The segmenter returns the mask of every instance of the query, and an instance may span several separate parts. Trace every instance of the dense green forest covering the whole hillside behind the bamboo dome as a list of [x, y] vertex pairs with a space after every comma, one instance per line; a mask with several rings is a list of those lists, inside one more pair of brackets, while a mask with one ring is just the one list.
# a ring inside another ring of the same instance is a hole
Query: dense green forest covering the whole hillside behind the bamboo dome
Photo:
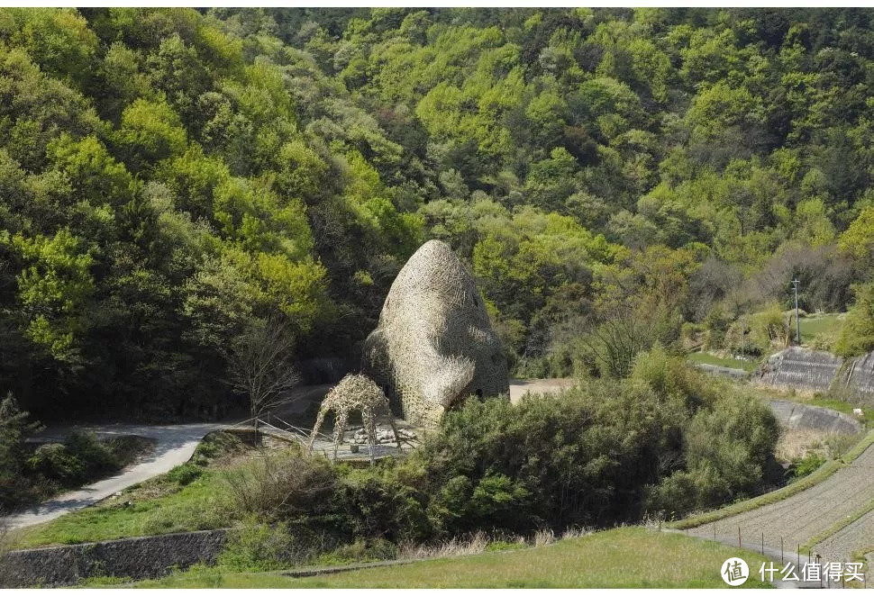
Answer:
[[794, 277], [874, 348], [872, 17], [2, 9], [0, 391], [219, 415], [259, 321], [356, 366], [429, 238], [518, 375], [753, 353]]

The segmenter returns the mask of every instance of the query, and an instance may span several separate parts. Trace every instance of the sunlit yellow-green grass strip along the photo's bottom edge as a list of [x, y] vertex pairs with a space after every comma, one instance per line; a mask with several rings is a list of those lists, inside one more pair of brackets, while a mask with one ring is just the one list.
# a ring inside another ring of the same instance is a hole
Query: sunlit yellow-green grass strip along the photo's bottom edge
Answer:
[[765, 588], [760, 555], [676, 533], [617, 528], [550, 546], [421, 561], [305, 578], [200, 567], [143, 588], [725, 588], [730, 556], [750, 565], [743, 587]]

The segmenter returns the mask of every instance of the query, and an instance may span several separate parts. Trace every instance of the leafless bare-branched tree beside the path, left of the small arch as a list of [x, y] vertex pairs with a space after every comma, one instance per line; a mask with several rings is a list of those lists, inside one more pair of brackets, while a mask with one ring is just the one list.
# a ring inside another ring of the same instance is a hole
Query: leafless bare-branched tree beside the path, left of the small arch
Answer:
[[290, 402], [291, 390], [300, 383], [291, 360], [294, 345], [291, 330], [277, 318], [253, 324], [234, 342], [231, 384], [249, 396], [256, 434], [259, 417]]

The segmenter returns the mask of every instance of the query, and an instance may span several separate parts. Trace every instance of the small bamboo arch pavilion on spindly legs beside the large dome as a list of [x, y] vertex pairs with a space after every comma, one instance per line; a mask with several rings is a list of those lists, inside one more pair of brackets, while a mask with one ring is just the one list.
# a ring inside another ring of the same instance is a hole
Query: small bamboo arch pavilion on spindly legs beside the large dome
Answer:
[[373, 465], [373, 452], [377, 446], [377, 417], [379, 415], [387, 416], [388, 423], [395, 433], [397, 450], [401, 450], [401, 438], [397, 433], [395, 419], [392, 418], [391, 410], [388, 407], [386, 393], [383, 393], [379, 386], [365, 375], [346, 375], [337, 386], [325, 395], [322, 407], [319, 408], [319, 415], [315, 419], [313, 433], [310, 435], [308, 451], [310, 453], [313, 452], [315, 438], [319, 433], [319, 429], [322, 428], [325, 415], [329, 411], [334, 411], [336, 421], [334, 422], [333, 430], [332, 461], [336, 462], [337, 448], [340, 447], [343, 435], [346, 432], [349, 414], [355, 410], [361, 412], [361, 421], [364, 423], [364, 430], [368, 436], [370, 465]]

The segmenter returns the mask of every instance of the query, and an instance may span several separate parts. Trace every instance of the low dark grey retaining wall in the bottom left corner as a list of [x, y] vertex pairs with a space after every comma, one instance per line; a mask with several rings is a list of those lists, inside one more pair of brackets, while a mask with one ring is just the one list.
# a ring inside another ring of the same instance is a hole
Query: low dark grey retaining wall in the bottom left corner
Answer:
[[213, 563], [226, 532], [216, 529], [16, 550], [0, 561], [0, 588], [57, 587], [104, 575], [160, 577], [173, 566], [187, 569], [200, 562]]

